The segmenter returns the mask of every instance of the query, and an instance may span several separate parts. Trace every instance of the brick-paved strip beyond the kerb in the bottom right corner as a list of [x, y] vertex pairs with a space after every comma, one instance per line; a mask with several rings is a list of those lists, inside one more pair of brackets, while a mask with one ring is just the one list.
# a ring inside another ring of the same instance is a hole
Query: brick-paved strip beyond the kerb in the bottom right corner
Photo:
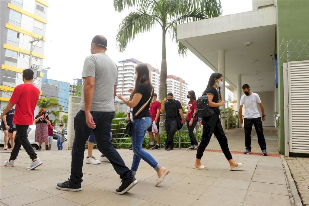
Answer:
[[309, 157], [285, 157], [303, 205], [309, 205]]

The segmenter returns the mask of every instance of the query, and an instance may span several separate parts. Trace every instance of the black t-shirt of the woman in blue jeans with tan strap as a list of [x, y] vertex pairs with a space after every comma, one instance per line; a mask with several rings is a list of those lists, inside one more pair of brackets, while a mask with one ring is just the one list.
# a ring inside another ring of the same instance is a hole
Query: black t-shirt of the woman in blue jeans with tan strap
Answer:
[[133, 119], [140, 119], [142, 117], [151, 117], [149, 112], [151, 100], [148, 102], [146, 107], [137, 115], [137, 117], [135, 117], [135, 113], [138, 111], [138, 109], [141, 108], [141, 106], [144, 105], [149, 100], [151, 96], [151, 87], [147, 84], [142, 83], [136, 89], [136, 93], [142, 94], [142, 99], [141, 101], [138, 102], [136, 107], [133, 108], [132, 112]]

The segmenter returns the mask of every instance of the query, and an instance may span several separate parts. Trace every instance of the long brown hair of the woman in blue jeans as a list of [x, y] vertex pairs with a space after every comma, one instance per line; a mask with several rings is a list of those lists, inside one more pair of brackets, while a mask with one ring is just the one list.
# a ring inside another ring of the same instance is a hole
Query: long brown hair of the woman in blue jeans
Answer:
[[[150, 86], [152, 91], [154, 89], [151, 82], [150, 82], [150, 79], [149, 79], [149, 70], [148, 70], [147, 65], [146, 64], [139, 64], [137, 67], [135, 67], [135, 70], [137, 71], [137, 79], [135, 81], [134, 91], [131, 94], [130, 100], [133, 99], [134, 94], [136, 93], [138, 86], [142, 83]], [[154, 96], [154, 92], [152, 92], [151, 98], [153, 98], [153, 96]]]

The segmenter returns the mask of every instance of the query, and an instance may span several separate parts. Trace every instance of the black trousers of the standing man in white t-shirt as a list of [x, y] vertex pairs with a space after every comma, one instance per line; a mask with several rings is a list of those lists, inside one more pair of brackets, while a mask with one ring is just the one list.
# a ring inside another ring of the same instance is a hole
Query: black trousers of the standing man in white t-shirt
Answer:
[[251, 131], [252, 131], [252, 124], [255, 127], [255, 131], [257, 134], [257, 141], [260, 145], [261, 150], [266, 149], [266, 142], [263, 134], [263, 124], [261, 118], [253, 118], [253, 119], [244, 119], [245, 125], [245, 146], [246, 149], [251, 149]]

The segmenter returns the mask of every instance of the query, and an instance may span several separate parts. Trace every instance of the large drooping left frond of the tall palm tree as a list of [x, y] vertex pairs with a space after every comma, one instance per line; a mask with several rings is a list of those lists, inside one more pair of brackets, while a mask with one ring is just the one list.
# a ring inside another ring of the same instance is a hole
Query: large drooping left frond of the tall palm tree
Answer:
[[120, 52], [124, 52], [129, 42], [138, 34], [150, 31], [159, 23], [155, 16], [149, 15], [145, 10], [129, 13], [121, 22], [116, 36]]

